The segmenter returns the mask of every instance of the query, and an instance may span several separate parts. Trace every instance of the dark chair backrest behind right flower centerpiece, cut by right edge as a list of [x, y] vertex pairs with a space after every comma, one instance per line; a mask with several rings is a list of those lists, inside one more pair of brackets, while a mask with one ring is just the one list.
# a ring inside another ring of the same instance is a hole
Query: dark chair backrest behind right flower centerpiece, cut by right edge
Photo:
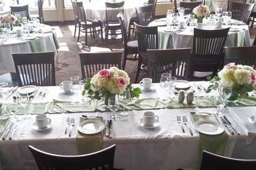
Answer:
[[225, 47], [224, 63], [250, 65], [256, 68], [256, 47]]

